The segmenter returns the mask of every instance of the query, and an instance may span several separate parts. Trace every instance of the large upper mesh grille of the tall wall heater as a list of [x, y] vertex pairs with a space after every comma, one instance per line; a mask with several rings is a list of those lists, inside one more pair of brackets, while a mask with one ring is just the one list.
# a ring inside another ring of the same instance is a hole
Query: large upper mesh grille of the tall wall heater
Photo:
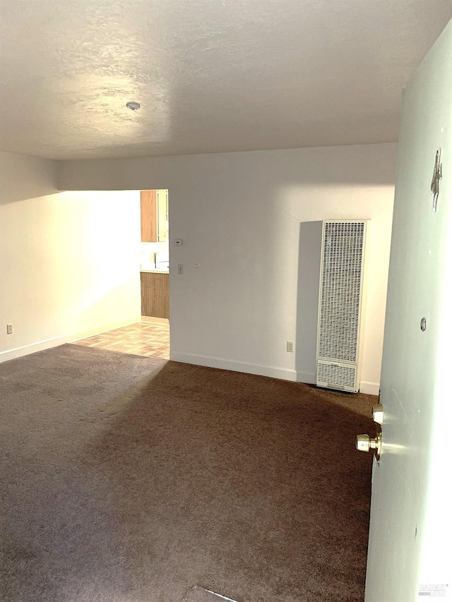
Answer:
[[319, 357], [357, 361], [364, 222], [326, 222]]

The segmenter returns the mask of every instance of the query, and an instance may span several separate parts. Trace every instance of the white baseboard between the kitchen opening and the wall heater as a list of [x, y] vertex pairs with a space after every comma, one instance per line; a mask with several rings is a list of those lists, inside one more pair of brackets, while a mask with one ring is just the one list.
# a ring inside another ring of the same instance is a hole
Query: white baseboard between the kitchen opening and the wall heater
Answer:
[[237, 362], [221, 357], [184, 354], [177, 353], [175, 351], [170, 351], [170, 359], [172, 361], [181, 361], [183, 363], [193, 363], [195, 366], [221, 368], [222, 370], [231, 370], [233, 372], [244, 372], [246, 374], [269, 376], [270, 378], [280, 378], [282, 380], [292, 380], [298, 383], [315, 383], [314, 374], [304, 374], [289, 368], [262, 366], [258, 363]]

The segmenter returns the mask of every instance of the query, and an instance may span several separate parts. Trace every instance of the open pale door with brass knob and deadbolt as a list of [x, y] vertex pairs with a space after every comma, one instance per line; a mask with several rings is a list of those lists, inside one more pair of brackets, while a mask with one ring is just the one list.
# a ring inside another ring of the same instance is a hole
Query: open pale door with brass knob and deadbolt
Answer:
[[403, 96], [366, 602], [452, 599], [451, 349], [452, 22]]

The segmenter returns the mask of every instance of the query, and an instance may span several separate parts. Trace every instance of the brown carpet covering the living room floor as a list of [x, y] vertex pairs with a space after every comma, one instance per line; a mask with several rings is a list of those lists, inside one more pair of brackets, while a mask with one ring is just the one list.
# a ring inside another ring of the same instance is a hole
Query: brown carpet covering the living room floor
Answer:
[[362, 601], [374, 397], [76, 345], [0, 394], [2, 600]]

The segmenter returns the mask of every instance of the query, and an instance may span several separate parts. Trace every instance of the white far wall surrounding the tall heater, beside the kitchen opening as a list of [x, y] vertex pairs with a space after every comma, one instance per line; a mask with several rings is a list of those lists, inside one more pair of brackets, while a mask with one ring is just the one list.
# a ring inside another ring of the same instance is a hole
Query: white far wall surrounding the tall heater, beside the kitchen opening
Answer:
[[61, 162], [59, 188], [168, 188], [170, 239], [184, 240], [170, 245], [172, 359], [307, 382], [300, 222], [370, 218], [362, 390], [378, 393], [395, 171], [382, 144]]

